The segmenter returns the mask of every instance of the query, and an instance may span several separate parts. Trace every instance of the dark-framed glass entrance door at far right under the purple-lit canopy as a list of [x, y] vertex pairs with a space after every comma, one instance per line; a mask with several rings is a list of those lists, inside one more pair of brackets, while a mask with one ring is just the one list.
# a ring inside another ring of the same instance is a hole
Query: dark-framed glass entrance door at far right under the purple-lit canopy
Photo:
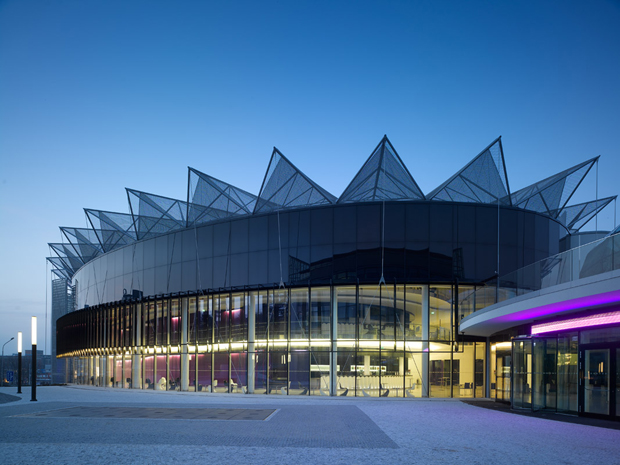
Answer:
[[609, 349], [583, 350], [583, 413], [597, 415], [611, 413], [609, 355]]

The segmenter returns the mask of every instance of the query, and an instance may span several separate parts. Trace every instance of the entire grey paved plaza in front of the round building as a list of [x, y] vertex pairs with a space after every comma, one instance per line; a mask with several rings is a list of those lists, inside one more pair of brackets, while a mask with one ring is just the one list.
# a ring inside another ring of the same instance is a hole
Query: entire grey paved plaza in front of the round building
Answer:
[[[617, 463], [620, 431], [456, 399], [0, 389], [0, 462]], [[15, 400], [19, 397], [19, 400]]]

